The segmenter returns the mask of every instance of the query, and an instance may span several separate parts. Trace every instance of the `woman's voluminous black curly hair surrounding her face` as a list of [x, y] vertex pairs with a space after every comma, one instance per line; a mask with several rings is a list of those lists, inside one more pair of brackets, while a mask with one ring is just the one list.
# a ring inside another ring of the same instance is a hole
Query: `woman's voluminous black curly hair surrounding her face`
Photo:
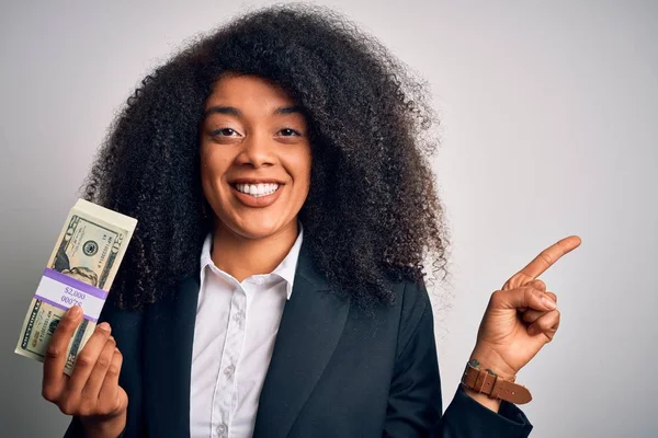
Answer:
[[390, 283], [421, 281], [426, 256], [446, 273], [426, 85], [342, 14], [274, 5], [189, 43], [141, 81], [110, 127], [82, 196], [138, 219], [112, 288], [120, 307], [152, 303], [198, 274], [213, 226], [200, 127], [224, 72], [268, 79], [303, 108], [313, 163], [299, 220], [337, 293], [366, 308], [393, 302]]

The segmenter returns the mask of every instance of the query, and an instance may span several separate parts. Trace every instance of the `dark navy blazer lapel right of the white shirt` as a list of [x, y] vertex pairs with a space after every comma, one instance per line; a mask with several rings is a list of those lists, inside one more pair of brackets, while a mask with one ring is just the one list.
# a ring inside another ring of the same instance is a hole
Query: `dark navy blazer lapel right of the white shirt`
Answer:
[[336, 349], [349, 308], [349, 301], [329, 291], [303, 242], [260, 395], [254, 438], [287, 436]]

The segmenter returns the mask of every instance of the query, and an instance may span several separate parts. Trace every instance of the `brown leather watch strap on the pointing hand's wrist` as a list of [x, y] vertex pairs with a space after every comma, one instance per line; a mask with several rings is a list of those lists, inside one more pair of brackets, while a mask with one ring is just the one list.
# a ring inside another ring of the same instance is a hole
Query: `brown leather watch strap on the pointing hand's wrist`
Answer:
[[489, 399], [500, 399], [514, 404], [525, 404], [532, 400], [527, 388], [514, 383], [515, 379], [506, 380], [501, 377], [490, 374], [488, 371], [475, 368], [466, 364], [462, 376], [462, 384], [474, 391], [487, 394]]

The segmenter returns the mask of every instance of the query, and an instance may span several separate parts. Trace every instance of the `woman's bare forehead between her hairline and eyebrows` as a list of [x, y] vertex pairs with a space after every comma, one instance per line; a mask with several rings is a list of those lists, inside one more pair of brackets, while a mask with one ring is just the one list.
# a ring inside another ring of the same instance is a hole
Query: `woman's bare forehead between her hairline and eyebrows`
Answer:
[[206, 107], [217, 105], [230, 106], [282, 106], [295, 102], [290, 94], [277, 84], [253, 74], [225, 73], [214, 84]]

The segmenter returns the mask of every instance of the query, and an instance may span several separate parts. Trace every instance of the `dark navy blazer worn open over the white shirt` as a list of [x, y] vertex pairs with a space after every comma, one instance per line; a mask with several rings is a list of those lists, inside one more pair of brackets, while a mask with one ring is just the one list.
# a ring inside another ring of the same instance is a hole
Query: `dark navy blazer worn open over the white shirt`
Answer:
[[[107, 302], [124, 355], [128, 394], [123, 437], [189, 437], [190, 376], [198, 276], [144, 312]], [[461, 388], [442, 415], [432, 308], [423, 285], [400, 283], [393, 306], [364, 314], [329, 291], [308, 247], [299, 253], [256, 418], [256, 438], [526, 437], [514, 405], [500, 412]], [[466, 360], [467, 358], [465, 358]], [[82, 437], [73, 418], [66, 437]]]

